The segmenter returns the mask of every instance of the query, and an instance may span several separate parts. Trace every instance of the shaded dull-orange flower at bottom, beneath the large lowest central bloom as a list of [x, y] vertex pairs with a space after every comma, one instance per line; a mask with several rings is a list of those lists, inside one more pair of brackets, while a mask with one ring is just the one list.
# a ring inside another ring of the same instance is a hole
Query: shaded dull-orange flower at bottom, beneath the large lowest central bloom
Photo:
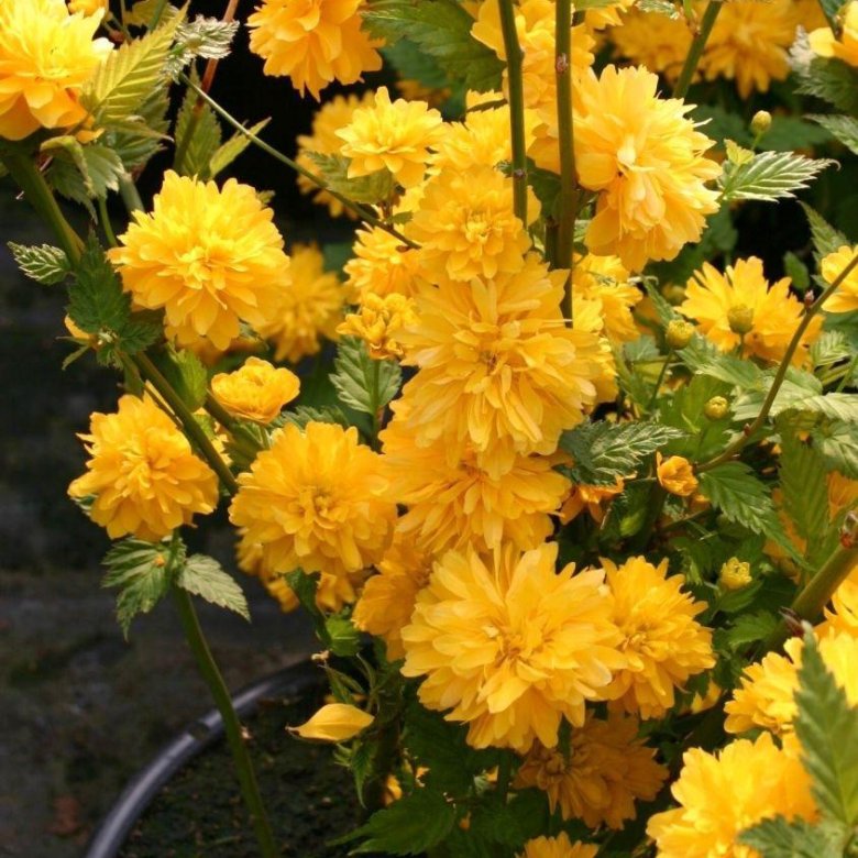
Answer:
[[622, 828], [636, 816], [635, 802], [652, 801], [668, 777], [656, 750], [638, 737], [638, 719], [610, 713], [607, 721], [587, 716], [572, 730], [568, 757], [536, 744], [518, 770], [516, 788], [548, 793], [551, 813], [583, 820], [588, 828]]

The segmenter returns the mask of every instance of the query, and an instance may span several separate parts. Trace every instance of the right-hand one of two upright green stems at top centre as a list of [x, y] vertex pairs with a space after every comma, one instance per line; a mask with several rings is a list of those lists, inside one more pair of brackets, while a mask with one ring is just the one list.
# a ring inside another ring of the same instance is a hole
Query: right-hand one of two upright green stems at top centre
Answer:
[[557, 128], [560, 147], [560, 210], [554, 267], [569, 268], [563, 292], [563, 318], [572, 326], [572, 271], [575, 235], [575, 144], [572, 119], [572, 3], [557, 0], [556, 18]]

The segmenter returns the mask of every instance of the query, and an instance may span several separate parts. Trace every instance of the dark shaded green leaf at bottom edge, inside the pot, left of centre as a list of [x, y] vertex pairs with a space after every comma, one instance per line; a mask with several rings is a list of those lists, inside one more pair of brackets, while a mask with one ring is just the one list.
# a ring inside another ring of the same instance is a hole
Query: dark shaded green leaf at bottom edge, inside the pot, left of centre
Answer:
[[352, 855], [420, 855], [447, 837], [455, 824], [455, 807], [444, 799], [442, 792], [418, 789], [389, 807], [374, 813], [365, 825], [342, 840], [362, 840], [351, 850]]

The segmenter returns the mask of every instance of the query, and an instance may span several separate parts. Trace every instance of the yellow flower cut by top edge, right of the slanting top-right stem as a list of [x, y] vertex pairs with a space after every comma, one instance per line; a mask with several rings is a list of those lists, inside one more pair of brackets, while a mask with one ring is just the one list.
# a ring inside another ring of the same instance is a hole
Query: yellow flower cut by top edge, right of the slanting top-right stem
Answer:
[[724, 3], [700, 62], [706, 80], [726, 77], [739, 95], [767, 92], [772, 80], [790, 73], [789, 50], [795, 41], [795, 0]]

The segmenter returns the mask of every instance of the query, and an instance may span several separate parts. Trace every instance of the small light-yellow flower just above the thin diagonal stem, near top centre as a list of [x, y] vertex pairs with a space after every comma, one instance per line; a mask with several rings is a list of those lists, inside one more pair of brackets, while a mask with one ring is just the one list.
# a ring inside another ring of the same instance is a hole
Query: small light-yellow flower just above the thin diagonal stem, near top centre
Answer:
[[344, 141], [342, 154], [351, 158], [349, 177], [387, 169], [405, 188], [419, 185], [442, 124], [441, 114], [425, 101], [391, 102], [387, 87], [380, 87], [375, 103], [355, 110], [352, 121], [337, 131]]

